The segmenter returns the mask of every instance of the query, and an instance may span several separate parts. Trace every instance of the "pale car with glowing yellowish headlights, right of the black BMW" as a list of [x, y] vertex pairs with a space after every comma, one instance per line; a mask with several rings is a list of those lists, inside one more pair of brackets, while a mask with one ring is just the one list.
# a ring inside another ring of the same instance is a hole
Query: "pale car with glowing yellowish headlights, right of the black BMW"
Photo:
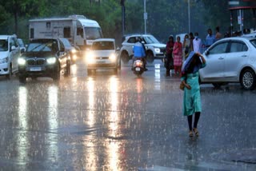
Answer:
[[115, 73], [121, 68], [114, 38], [99, 38], [92, 42], [90, 51], [86, 54], [87, 74], [92, 70], [113, 69]]

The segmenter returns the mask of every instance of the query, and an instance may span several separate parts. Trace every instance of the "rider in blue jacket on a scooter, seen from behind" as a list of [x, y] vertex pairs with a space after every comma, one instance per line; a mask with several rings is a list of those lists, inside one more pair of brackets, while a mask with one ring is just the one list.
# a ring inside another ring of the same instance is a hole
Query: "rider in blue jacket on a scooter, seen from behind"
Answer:
[[[141, 38], [136, 38], [136, 43], [134, 44], [133, 47], [134, 51], [134, 58], [133, 58], [133, 63], [137, 58], [141, 58], [142, 62], [144, 63], [144, 70], [146, 71], [146, 48], [142, 44], [142, 39]], [[132, 66], [132, 70], [134, 70], [134, 67]]]

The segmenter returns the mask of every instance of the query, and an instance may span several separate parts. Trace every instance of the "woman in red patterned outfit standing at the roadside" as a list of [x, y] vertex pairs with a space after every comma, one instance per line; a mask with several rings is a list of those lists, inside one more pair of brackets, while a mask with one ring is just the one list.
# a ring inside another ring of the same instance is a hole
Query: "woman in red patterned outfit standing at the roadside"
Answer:
[[173, 57], [174, 57], [174, 72], [175, 75], [182, 76], [182, 43], [180, 42], [181, 38], [177, 37], [177, 42], [174, 42], [174, 50], [173, 50]]

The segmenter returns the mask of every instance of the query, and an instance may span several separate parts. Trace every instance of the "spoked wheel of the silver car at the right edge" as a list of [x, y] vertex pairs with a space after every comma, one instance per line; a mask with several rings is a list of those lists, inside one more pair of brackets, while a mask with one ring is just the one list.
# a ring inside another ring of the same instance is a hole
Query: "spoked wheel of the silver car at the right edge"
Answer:
[[255, 73], [253, 70], [246, 69], [242, 72], [240, 84], [243, 89], [254, 89], [255, 86]]

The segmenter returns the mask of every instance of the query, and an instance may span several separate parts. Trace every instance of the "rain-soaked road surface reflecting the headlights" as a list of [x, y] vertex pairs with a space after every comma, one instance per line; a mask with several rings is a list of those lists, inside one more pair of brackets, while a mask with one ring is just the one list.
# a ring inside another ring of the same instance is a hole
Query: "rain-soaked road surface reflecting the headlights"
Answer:
[[189, 138], [179, 79], [160, 61], [136, 78], [0, 78], [0, 170], [256, 170], [256, 90], [202, 85], [200, 137]]

